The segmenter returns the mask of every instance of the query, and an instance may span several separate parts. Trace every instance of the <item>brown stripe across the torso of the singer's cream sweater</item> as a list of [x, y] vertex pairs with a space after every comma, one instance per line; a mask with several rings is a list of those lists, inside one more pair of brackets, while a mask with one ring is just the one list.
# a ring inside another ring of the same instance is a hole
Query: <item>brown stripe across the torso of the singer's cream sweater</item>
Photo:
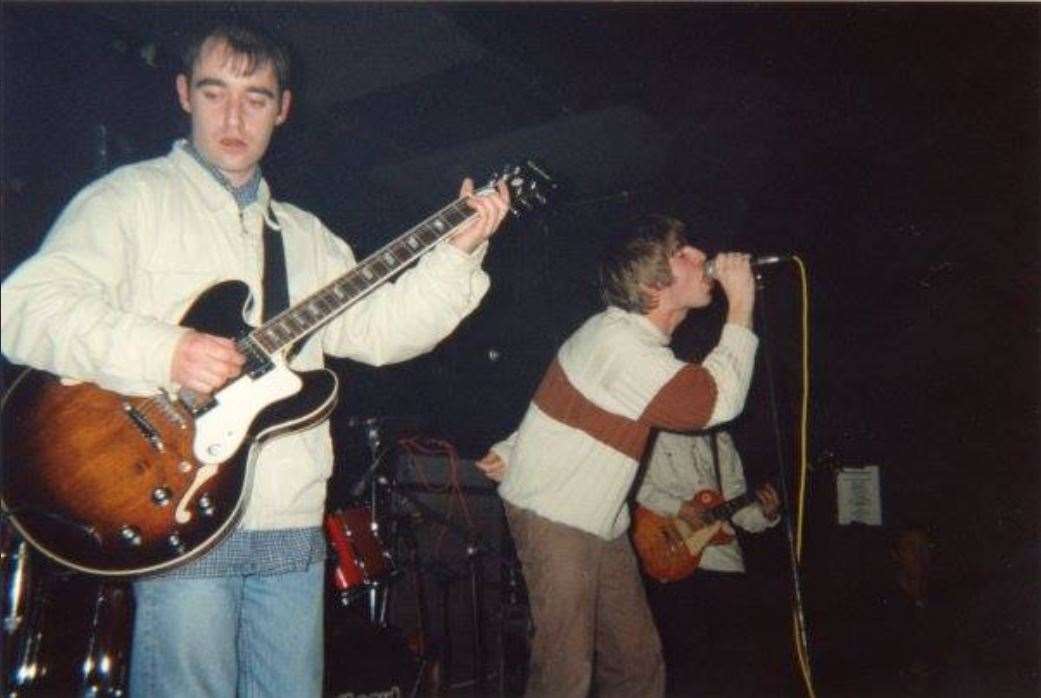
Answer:
[[594, 405], [572, 385], [556, 359], [542, 377], [534, 402], [550, 417], [585, 432], [634, 461], [643, 455], [650, 428]]

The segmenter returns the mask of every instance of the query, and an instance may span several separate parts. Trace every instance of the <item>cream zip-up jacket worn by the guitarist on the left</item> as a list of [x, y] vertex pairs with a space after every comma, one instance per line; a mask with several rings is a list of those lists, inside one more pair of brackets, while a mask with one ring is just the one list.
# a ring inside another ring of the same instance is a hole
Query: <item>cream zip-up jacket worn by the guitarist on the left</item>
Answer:
[[[40, 252], [4, 281], [0, 342], [12, 362], [125, 394], [170, 385], [177, 324], [198, 295], [228, 279], [260, 296], [263, 214], [270, 190], [242, 212], [231, 193], [183, 149], [121, 167], [83, 189]], [[314, 215], [274, 202], [282, 231], [290, 303], [342, 275], [351, 249]], [[391, 234], [388, 233], [388, 237]], [[374, 365], [432, 348], [488, 289], [480, 264], [438, 245], [318, 331], [293, 361], [321, 367], [324, 354]], [[259, 305], [247, 321], [257, 324]], [[243, 526], [321, 524], [332, 469], [327, 423], [269, 443], [257, 461]]]

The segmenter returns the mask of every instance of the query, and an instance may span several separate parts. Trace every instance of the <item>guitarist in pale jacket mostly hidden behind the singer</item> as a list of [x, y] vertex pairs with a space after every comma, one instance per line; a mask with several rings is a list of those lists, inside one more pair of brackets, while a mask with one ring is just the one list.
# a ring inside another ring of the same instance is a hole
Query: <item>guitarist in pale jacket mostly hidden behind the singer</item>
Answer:
[[[755, 677], [747, 667], [757, 664], [755, 638], [744, 561], [731, 522], [748, 533], [776, 525], [781, 501], [773, 487], [745, 495], [741, 458], [723, 431], [660, 432], [636, 499], [634, 539], [649, 572], [648, 599], [661, 635], [669, 695], [701, 695], [697, 689], [707, 695], [759, 695], [748, 683]], [[641, 528], [652, 525], [660, 526], [654, 533], [661, 546], [641, 545], [648, 538]], [[717, 531], [692, 555], [683, 538], [697, 540], [707, 526]], [[687, 560], [665, 567], [649, 559], [649, 548]], [[658, 569], [664, 572], [656, 579]]]

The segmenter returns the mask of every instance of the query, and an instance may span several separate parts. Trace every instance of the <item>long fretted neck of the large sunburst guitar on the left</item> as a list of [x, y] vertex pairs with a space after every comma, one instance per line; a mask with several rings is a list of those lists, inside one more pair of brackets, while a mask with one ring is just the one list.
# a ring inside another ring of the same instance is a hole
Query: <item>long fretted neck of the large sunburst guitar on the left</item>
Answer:
[[344, 276], [264, 322], [251, 332], [248, 339], [269, 356], [291, 346], [429, 252], [473, 215], [475, 212], [465, 199], [452, 202]]

